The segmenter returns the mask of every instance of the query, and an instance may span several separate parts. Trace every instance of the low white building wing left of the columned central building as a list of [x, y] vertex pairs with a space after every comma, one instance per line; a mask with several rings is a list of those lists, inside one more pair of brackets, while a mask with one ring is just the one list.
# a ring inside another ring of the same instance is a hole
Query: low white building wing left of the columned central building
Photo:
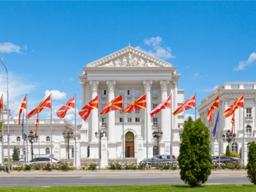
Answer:
[[[7, 106], [3, 105], [3, 113], [4, 113], [4, 127], [7, 127], [8, 113]], [[0, 118], [2, 121], [2, 111], [0, 111]], [[24, 133], [26, 134], [26, 119], [24, 118]], [[35, 134], [35, 126], [36, 120], [29, 119], [28, 120], [28, 132], [33, 131]], [[26, 153], [26, 142], [24, 143], [22, 139], [22, 125], [19, 125], [18, 120], [14, 119], [12, 115], [10, 115], [9, 119], [9, 130], [10, 130], [10, 156], [12, 158], [13, 148], [14, 146], [18, 149], [20, 157], [24, 159], [24, 155]], [[2, 127], [0, 127], [2, 130]], [[38, 156], [51, 154], [51, 140], [52, 140], [52, 154], [56, 159], [67, 159], [68, 147], [67, 140], [63, 138], [63, 132], [74, 132], [74, 125], [68, 122], [65, 119], [52, 119], [52, 137], [51, 137], [51, 120], [50, 119], [40, 119], [38, 124], [37, 135], [39, 136], [39, 140], [36, 143], [33, 143], [33, 154]], [[79, 132], [79, 129], [78, 131]], [[28, 133], [29, 134], [29, 133]], [[67, 134], [66, 134], [67, 135]], [[79, 139], [79, 138], [78, 138]], [[3, 141], [0, 142], [0, 163], [2, 163], [2, 147], [4, 148], [4, 157], [8, 157], [8, 131], [4, 128], [3, 132]], [[39, 143], [40, 143], [40, 153], [39, 153]], [[74, 138], [70, 140], [70, 157], [74, 154]], [[73, 149], [73, 151], [72, 151]], [[35, 156], [34, 156], [35, 157]], [[31, 143], [28, 146], [28, 160], [31, 160]]]

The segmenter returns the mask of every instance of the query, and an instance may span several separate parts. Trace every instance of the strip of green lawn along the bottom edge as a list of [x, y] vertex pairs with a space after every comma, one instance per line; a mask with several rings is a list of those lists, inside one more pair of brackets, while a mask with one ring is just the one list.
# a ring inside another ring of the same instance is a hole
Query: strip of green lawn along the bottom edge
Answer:
[[253, 185], [203, 185], [189, 188], [187, 185], [152, 185], [152, 186], [56, 186], [56, 187], [13, 187], [0, 188], [0, 191], [256, 191]]

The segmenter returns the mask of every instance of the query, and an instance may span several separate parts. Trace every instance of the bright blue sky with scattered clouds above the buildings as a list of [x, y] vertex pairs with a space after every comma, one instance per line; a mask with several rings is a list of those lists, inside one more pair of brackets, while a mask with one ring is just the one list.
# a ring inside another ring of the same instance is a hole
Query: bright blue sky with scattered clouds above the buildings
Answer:
[[[225, 82], [255, 81], [255, 1], [1, 1], [0, 6], [0, 57], [8, 67], [15, 117], [26, 93], [29, 110], [52, 90], [55, 111], [74, 93], [81, 109], [82, 67], [129, 42], [177, 67], [178, 88], [185, 90], [185, 100], [196, 92], [197, 106]], [[6, 93], [5, 78], [0, 65], [0, 93]], [[41, 117], [49, 118], [49, 111]], [[67, 120], [74, 122], [71, 110]]]

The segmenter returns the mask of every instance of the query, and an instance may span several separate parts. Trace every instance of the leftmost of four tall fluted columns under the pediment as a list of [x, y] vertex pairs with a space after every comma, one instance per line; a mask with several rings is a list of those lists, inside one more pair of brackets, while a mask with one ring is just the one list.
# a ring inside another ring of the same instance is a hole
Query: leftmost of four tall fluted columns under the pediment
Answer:
[[[99, 88], [99, 81], [90, 81], [92, 87], [92, 99], [94, 99], [98, 95], [98, 88]], [[98, 116], [98, 109], [93, 109], [91, 111], [92, 115], [92, 141], [98, 141], [95, 137], [95, 132], [98, 132], [99, 128], [99, 116]]]

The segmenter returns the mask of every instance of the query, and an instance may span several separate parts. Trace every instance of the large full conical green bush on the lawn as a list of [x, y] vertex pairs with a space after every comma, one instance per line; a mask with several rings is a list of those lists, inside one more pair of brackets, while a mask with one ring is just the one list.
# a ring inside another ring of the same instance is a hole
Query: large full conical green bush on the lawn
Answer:
[[180, 179], [190, 186], [204, 184], [211, 175], [209, 130], [198, 118], [185, 121], [178, 157]]

